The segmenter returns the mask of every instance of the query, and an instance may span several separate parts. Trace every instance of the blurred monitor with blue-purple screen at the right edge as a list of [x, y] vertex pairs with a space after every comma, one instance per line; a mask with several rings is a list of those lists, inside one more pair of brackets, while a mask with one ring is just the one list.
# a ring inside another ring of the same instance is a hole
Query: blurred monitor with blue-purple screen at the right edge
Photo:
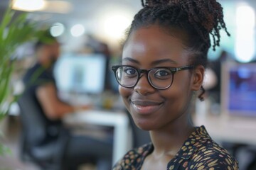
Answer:
[[256, 63], [223, 64], [223, 114], [256, 118]]

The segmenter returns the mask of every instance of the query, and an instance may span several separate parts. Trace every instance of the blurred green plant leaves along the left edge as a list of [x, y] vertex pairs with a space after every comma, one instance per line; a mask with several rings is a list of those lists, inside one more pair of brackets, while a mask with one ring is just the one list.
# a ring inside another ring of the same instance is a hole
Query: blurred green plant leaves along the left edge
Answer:
[[[16, 62], [14, 53], [17, 47], [38, 38], [40, 33], [41, 30], [36, 28], [36, 23], [28, 21], [27, 13], [16, 15], [16, 11], [11, 7], [6, 9], [0, 21], [0, 123], [6, 117], [11, 103], [16, 101], [10, 86]], [[6, 152], [9, 152], [9, 149], [0, 143], [0, 155]]]

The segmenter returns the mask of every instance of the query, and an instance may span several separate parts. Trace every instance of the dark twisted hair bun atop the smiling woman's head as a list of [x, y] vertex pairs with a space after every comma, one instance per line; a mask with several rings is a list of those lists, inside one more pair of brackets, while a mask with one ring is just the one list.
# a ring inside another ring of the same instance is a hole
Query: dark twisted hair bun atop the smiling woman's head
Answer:
[[[223, 28], [230, 36], [223, 21], [223, 8], [216, 0], [142, 0], [142, 6], [177, 6], [181, 8], [184, 13], [187, 13], [188, 22], [204, 41], [209, 41], [209, 34], [213, 37], [213, 50], [215, 50], [215, 46], [219, 46], [220, 29]], [[210, 47], [210, 42], [208, 46]]]

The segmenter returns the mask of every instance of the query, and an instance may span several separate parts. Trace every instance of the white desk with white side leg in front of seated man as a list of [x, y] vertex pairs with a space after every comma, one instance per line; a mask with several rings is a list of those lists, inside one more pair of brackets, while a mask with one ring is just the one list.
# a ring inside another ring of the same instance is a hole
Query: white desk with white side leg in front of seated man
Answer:
[[64, 118], [65, 123], [70, 124], [93, 124], [114, 127], [113, 159], [116, 163], [121, 159], [129, 148], [129, 118], [122, 112], [111, 111], [80, 111], [68, 114]]

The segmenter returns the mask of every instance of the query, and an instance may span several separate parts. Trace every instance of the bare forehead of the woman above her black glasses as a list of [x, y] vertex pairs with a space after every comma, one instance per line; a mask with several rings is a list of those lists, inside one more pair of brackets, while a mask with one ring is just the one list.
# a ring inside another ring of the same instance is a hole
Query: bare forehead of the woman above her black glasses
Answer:
[[138, 57], [144, 60], [181, 57], [186, 50], [183, 40], [178, 37], [166, 33], [159, 26], [133, 30], [124, 45], [122, 57]]

